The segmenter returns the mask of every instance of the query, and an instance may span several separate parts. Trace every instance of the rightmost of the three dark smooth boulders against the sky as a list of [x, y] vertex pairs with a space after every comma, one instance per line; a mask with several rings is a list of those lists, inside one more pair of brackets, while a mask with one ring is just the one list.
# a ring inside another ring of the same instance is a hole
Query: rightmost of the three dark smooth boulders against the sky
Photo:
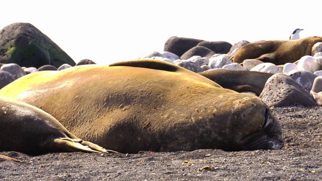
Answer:
[[225, 41], [202, 41], [198, 43], [197, 46], [203, 46], [209, 48], [210, 50], [219, 53], [219, 54], [226, 54], [229, 52], [232, 45]]

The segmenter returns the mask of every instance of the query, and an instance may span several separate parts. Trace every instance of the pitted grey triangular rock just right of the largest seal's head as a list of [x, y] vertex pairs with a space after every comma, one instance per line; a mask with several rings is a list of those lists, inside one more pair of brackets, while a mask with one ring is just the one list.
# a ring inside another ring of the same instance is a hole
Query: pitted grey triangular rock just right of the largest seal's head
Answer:
[[274, 74], [267, 80], [259, 98], [269, 107], [317, 106], [311, 94], [295, 80], [281, 73]]

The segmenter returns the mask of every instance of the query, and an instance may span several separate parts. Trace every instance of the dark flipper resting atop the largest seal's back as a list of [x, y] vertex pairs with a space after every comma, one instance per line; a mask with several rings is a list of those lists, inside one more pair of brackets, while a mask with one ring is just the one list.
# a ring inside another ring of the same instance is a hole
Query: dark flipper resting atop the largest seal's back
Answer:
[[165, 71], [172, 71], [172, 72], [183, 70], [182, 67], [172, 63], [168, 63], [166, 61], [148, 60], [148, 59], [117, 62], [117, 63], [112, 63], [109, 66], [131, 66], [131, 67], [141, 67], [141, 68], [165, 70]]

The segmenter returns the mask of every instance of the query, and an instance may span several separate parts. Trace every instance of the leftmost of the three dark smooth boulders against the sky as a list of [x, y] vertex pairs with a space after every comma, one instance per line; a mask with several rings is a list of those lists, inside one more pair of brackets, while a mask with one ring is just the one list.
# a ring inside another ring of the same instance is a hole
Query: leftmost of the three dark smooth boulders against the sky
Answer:
[[186, 51], [190, 50], [192, 47], [197, 46], [198, 43], [202, 41], [204, 40], [173, 36], [166, 41], [164, 51], [174, 53], [181, 57]]

